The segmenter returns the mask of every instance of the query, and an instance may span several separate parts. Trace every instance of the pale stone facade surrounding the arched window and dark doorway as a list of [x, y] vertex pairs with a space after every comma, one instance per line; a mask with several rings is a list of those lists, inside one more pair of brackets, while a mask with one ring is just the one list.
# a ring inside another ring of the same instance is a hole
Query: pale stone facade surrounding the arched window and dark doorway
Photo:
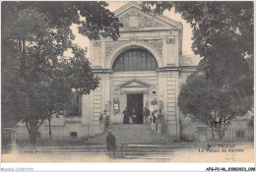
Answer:
[[[99, 113], [104, 110], [110, 116], [110, 124], [121, 124], [127, 93], [140, 92], [143, 93], [144, 107], [157, 100], [158, 105], [151, 109], [159, 109], [162, 102], [166, 134], [179, 137], [179, 86], [197, 66], [186, 64], [188, 60], [182, 56], [182, 24], [163, 16], [145, 14], [135, 2], [118, 9], [115, 15], [124, 26], [120, 30], [120, 38], [117, 41], [110, 38], [91, 41], [91, 63], [101, 80], [96, 90], [82, 98], [82, 124], [90, 125], [90, 135], [96, 135], [99, 132]], [[113, 72], [112, 66], [118, 55], [132, 48], [144, 48], [151, 52], [159, 69]], [[117, 110], [114, 103], [118, 103]]]

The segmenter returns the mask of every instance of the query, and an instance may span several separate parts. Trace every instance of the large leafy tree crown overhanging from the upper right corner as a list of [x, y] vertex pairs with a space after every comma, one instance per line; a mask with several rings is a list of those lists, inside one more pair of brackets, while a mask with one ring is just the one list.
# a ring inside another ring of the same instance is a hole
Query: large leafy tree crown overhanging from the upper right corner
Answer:
[[[153, 8], [154, 7], [154, 8]], [[145, 2], [144, 11], [175, 8], [193, 29], [192, 50], [207, 78], [245, 96], [253, 94], [253, 2]], [[203, 68], [202, 68], [203, 67]]]

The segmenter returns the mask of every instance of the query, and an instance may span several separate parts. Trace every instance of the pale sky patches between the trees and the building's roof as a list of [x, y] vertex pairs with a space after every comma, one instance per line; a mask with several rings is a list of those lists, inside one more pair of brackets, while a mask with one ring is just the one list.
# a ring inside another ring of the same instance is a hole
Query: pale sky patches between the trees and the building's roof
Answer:
[[[125, 4], [129, 3], [129, 1], [108, 1], [108, 7], [111, 12], [114, 12], [118, 8], [124, 6]], [[181, 18], [180, 14], [175, 14], [174, 10], [172, 9], [171, 11], [164, 11], [163, 15], [169, 19], [172, 19], [176, 22], [181, 22], [183, 25], [183, 42], [182, 42], [182, 54], [183, 55], [194, 55], [193, 51], [191, 50], [191, 44], [192, 44], [192, 28], [190, 27], [189, 24], [186, 23]], [[74, 34], [76, 35], [76, 39], [74, 40], [74, 43], [77, 43], [80, 47], [82, 48], [88, 48], [88, 53], [87, 57], [89, 57], [89, 50], [90, 50], [90, 40], [79, 33], [78, 31], [78, 26], [77, 25], [72, 25], [71, 26]], [[68, 54], [70, 52], [67, 52]], [[90, 58], [90, 57], [89, 57]]]

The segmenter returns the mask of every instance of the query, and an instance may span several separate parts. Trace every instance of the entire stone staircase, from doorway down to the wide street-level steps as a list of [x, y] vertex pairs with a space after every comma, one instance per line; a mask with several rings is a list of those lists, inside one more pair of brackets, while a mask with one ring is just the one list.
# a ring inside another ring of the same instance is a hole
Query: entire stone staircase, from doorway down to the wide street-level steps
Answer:
[[[111, 130], [116, 138], [116, 156], [127, 158], [144, 158], [144, 159], [172, 159], [177, 154], [186, 149], [195, 148], [195, 145], [173, 144], [169, 140], [164, 141], [165, 137], [160, 137], [157, 132], [151, 131], [151, 125], [126, 124], [110, 125], [104, 134], [86, 141], [85, 145], [79, 146], [36, 146], [37, 154], [44, 152], [51, 153], [52, 156], [60, 158], [70, 157], [71, 155], [82, 155], [83, 157], [107, 155], [105, 138], [107, 130]], [[124, 144], [121, 144], [124, 142]], [[162, 144], [162, 143], [167, 144]], [[121, 148], [122, 147], [122, 148]], [[30, 151], [32, 147], [20, 147], [20, 152]], [[32, 150], [34, 152], [35, 150]], [[68, 156], [67, 156], [68, 155]]]

